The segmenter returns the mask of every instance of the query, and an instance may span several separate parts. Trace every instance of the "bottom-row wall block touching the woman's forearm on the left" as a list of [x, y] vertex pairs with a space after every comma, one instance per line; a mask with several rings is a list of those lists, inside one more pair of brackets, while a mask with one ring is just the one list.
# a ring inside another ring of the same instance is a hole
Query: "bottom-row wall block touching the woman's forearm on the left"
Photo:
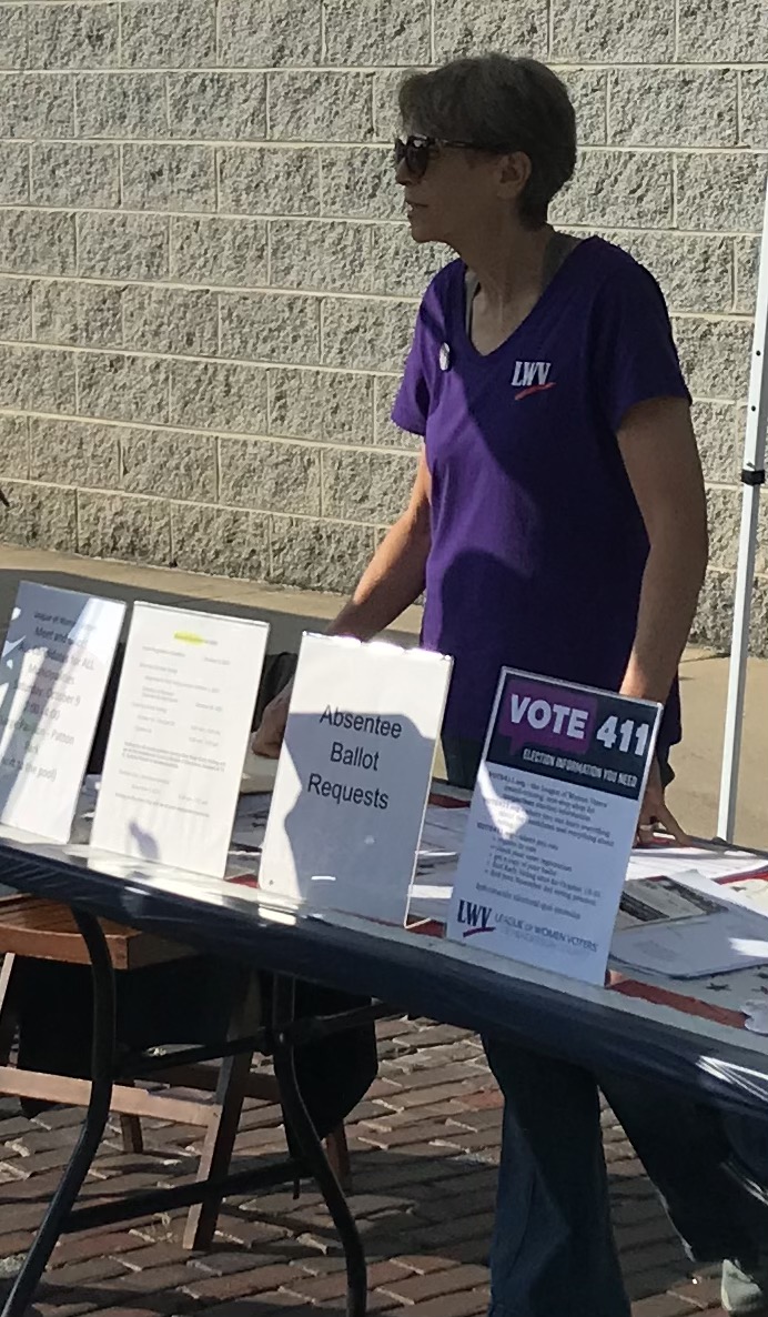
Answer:
[[348, 594], [373, 551], [373, 527], [273, 516], [270, 582]]

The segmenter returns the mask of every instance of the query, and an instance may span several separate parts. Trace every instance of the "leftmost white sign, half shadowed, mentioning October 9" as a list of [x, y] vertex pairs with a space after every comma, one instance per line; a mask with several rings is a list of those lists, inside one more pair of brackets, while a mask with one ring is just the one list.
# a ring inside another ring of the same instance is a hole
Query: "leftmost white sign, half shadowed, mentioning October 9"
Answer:
[[22, 581], [0, 657], [0, 823], [69, 842], [125, 605]]

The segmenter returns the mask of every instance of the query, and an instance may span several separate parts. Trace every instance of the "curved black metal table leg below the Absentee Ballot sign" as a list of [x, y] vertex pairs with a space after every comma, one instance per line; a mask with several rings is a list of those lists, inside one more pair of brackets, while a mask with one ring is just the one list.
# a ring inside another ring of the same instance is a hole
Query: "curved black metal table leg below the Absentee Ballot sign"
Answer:
[[294, 1019], [295, 981], [274, 979], [273, 1022], [274, 1022], [274, 1071], [281, 1089], [281, 1102], [302, 1156], [316, 1181], [339, 1231], [344, 1258], [346, 1260], [346, 1317], [365, 1317], [368, 1306], [368, 1272], [362, 1242], [349, 1210], [349, 1204], [339, 1185], [323, 1144], [296, 1083], [294, 1046], [290, 1026]]

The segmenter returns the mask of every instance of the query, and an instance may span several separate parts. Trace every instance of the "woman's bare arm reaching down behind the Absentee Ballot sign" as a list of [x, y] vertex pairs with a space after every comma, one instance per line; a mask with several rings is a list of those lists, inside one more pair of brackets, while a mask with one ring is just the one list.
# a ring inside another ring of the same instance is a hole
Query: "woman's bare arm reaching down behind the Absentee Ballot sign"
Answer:
[[[352, 598], [331, 623], [328, 633], [370, 640], [389, 627], [422, 594], [428, 553], [429, 470], [422, 449], [406, 511], [385, 535]], [[291, 686], [292, 682], [266, 706], [253, 738], [257, 755], [279, 755]]]

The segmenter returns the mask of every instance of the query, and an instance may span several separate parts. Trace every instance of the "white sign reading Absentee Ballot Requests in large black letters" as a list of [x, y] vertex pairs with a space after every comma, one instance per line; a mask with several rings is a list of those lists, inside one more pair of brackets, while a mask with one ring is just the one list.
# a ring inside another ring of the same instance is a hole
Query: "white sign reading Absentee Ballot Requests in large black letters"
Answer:
[[304, 636], [260, 885], [403, 923], [451, 660]]

